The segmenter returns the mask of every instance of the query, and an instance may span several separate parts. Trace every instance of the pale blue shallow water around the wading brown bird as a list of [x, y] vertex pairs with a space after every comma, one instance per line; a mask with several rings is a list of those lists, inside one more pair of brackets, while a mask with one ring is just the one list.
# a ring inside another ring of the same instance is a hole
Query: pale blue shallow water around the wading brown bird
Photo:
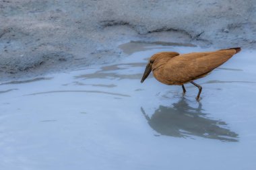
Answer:
[[256, 52], [195, 81], [197, 102], [190, 84], [141, 84], [146, 58], [213, 49], [134, 43], [111, 65], [2, 82], [1, 169], [255, 169]]

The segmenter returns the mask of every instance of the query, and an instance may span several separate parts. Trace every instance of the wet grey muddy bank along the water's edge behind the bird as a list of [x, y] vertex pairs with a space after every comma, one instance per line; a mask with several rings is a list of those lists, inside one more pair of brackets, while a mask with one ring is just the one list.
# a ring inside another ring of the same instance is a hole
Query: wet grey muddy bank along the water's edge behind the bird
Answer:
[[255, 5], [255, 0], [1, 1], [1, 81], [115, 62], [127, 56], [118, 46], [131, 41], [255, 49]]

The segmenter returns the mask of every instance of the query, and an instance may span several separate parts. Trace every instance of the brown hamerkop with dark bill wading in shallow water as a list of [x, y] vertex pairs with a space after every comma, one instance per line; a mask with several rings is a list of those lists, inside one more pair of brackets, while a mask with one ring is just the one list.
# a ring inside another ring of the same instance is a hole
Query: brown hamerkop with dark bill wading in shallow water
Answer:
[[230, 48], [213, 52], [192, 52], [189, 54], [158, 52], [150, 57], [141, 83], [153, 71], [154, 77], [161, 83], [166, 85], [182, 85], [183, 93], [186, 93], [184, 84], [192, 83], [199, 89], [196, 97], [199, 100], [202, 87], [193, 81], [205, 77], [240, 51], [241, 48]]

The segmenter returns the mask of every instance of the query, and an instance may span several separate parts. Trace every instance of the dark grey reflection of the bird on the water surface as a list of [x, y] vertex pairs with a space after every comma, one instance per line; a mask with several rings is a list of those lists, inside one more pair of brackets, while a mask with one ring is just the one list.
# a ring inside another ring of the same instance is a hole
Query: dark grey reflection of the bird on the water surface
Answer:
[[159, 134], [174, 137], [192, 138], [200, 136], [224, 142], [238, 142], [238, 134], [226, 127], [226, 122], [212, 120], [203, 113], [199, 103], [197, 108], [189, 106], [183, 97], [173, 107], [160, 105], [151, 118], [141, 108], [148, 124]]

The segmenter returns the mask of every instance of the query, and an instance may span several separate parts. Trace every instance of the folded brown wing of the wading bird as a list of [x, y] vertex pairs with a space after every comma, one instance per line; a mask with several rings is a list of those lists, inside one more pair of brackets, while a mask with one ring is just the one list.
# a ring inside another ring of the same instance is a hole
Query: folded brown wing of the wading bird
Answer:
[[181, 54], [168, 61], [165, 66], [170, 79], [185, 82], [202, 77], [222, 65], [236, 54], [235, 49], [218, 50], [215, 52], [193, 52]]

